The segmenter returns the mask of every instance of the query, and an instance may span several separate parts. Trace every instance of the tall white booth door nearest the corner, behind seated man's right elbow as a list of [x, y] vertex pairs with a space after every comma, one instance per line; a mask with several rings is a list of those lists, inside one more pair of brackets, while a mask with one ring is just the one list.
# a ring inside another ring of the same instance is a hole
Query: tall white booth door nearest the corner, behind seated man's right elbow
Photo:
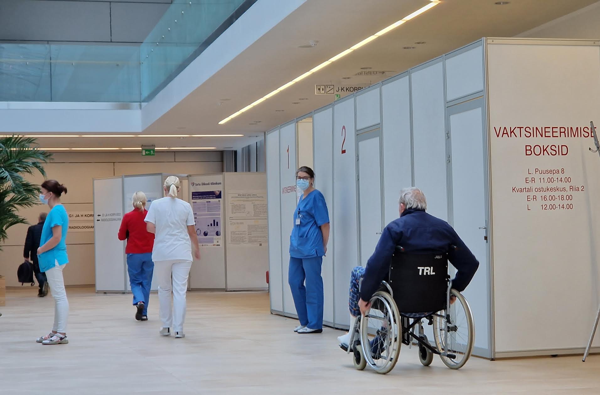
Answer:
[[448, 107], [450, 131], [452, 226], [479, 261], [475, 277], [463, 292], [475, 320], [476, 355], [491, 357], [490, 269], [487, 241], [487, 149], [484, 100]]

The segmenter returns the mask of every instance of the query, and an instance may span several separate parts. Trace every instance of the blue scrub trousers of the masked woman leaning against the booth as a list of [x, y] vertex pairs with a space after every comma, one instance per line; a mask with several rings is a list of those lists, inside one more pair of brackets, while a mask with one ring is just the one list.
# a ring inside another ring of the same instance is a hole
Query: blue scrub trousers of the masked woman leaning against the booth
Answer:
[[[292, 289], [292, 297], [300, 325], [310, 329], [323, 328], [323, 278], [321, 265], [323, 257], [293, 258], [287, 281]], [[304, 285], [306, 281], [306, 286]]]

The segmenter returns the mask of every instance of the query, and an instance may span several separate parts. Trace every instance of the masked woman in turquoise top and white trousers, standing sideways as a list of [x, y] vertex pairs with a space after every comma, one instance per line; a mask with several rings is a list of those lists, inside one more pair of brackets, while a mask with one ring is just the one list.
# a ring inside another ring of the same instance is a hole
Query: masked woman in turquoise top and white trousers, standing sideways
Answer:
[[67, 229], [69, 217], [61, 204], [61, 194], [67, 193], [67, 187], [55, 179], [47, 179], [41, 184], [40, 202], [50, 207], [50, 213], [41, 231], [40, 248], [37, 250], [40, 271], [46, 272], [50, 292], [54, 298], [54, 326], [46, 336], [38, 337], [36, 342], [43, 345], [66, 344], [67, 317], [69, 302], [65, 291], [62, 269], [69, 261], [67, 257]]

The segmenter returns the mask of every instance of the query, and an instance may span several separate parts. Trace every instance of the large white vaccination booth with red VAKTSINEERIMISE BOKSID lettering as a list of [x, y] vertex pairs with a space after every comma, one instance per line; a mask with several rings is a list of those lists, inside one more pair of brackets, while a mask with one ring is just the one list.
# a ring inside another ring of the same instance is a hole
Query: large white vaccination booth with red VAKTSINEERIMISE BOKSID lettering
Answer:
[[484, 38], [269, 131], [271, 312], [295, 316], [295, 170], [312, 164], [331, 219], [327, 325], [348, 328], [350, 271], [415, 185], [479, 261], [463, 292], [473, 354], [583, 353], [600, 300], [599, 115], [599, 41]]

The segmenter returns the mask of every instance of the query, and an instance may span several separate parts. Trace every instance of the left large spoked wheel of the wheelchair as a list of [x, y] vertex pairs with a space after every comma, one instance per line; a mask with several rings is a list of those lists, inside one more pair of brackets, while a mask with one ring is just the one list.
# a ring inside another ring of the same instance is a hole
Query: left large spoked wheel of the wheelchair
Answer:
[[371, 297], [371, 309], [361, 318], [362, 356], [377, 373], [394, 369], [400, 354], [402, 325], [398, 307], [387, 292]]

